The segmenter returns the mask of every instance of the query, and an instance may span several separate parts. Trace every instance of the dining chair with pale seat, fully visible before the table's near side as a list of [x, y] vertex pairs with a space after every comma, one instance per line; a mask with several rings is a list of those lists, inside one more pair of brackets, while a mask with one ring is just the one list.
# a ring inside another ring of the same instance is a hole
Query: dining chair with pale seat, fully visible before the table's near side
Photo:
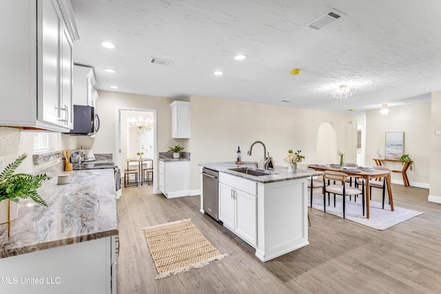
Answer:
[[[323, 211], [326, 212], [326, 193], [328, 193], [328, 205], [329, 205], [329, 194], [334, 194], [334, 207], [336, 207], [336, 195], [342, 196], [343, 202], [343, 218], [345, 218], [345, 209], [346, 209], [346, 196], [356, 196], [362, 195], [362, 211], [363, 216], [365, 216], [365, 187], [363, 185], [363, 189], [358, 189], [355, 187], [346, 187], [346, 180], [348, 176], [345, 173], [340, 171], [325, 171], [323, 175]], [[331, 184], [331, 181], [335, 182], [335, 184]], [[341, 185], [337, 184], [337, 182], [341, 182]]]

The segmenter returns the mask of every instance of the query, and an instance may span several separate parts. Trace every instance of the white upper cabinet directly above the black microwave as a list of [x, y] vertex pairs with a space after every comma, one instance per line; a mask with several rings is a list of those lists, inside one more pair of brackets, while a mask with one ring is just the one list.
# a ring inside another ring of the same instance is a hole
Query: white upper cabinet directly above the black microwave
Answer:
[[95, 106], [98, 98], [95, 83], [92, 67], [74, 65], [74, 105]]

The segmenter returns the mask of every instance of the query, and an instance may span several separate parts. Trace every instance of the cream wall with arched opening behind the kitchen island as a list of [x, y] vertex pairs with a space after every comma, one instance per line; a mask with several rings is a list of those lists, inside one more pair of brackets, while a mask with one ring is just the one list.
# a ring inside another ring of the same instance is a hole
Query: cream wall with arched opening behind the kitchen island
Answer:
[[[345, 149], [347, 162], [356, 161], [356, 121], [353, 114], [336, 114], [259, 103], [191, 96], [192, 163], [191, 187], [200, 189], [198, 163], [234, 161], [237, 147], [245, 161], [263, 160], [263, 148], [255, 145], [253, 155], [247, 150], [256, 140], [265, 143], [276, 165], [286, 166], [283, 156], [289, 149], [302, 150], [304, 163], [319, 163], [317, 132], [323, 122], [336, 130], [336, 150]], [[334, 159], [338, 162], [335, 152]], [[326, 162], [329, 163], [329, 162]], [[305, 166], [303, 165], [303, 166]]]

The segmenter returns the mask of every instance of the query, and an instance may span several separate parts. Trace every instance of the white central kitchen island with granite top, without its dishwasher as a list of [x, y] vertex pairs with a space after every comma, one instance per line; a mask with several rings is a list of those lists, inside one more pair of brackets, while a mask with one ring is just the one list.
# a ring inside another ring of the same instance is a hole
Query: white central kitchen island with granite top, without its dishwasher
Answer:
[[[309, 244], [307, 180], [322, 172], [298, 169], [292, 174], [278, 166], [262, 171], [234, 162], [199, 165], [201, 171], [204, 167], [218, 171], [219, 220], [256, 249], [258, 259], [266, 262]], [[253, 176], [234, 169], [265, 174]], [[201, 213], [205, 213], [203, 198], [202, 193]]]

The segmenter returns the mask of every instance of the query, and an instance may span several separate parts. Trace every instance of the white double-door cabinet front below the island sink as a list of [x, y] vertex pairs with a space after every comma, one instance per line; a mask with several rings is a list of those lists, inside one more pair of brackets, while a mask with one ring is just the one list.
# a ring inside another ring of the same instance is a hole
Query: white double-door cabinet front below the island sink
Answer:
[[256, 182], [219, 174], [219, 220], [224, 227], [256, 248]]

